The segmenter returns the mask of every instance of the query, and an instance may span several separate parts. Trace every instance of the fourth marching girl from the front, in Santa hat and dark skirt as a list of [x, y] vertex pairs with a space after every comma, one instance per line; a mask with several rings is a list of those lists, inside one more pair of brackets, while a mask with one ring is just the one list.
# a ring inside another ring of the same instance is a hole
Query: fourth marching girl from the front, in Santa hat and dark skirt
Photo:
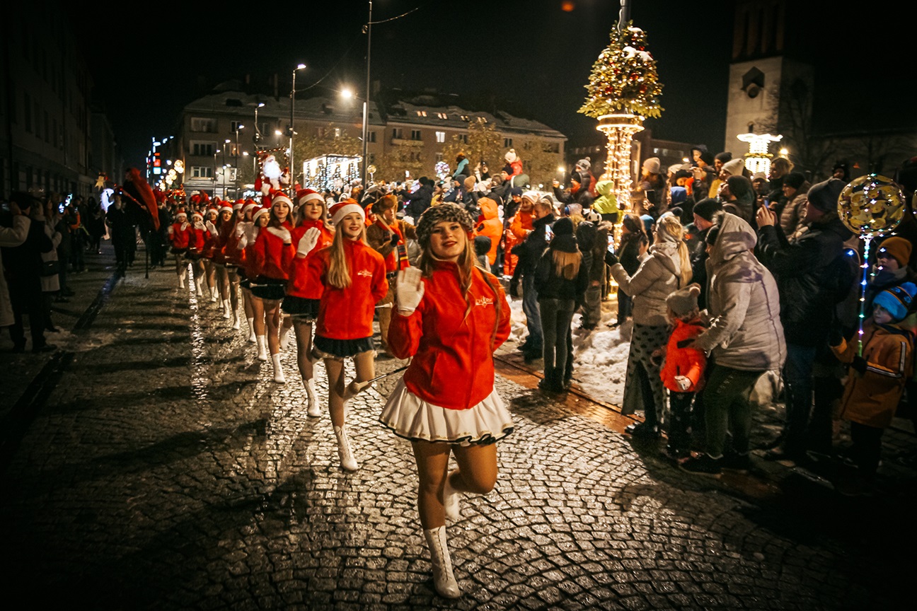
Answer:
[[[260, 300], [264, 312], [262, 323], [267, 323], [266, 339], [274, 366], [274, 381], [278, 384], [286, 384], [281, 367], [280, 324], [281, 300], [290, 279], [287, 270], [296, 254], [290, 235], [293, 228], [290, 224], [292, 204], [286, 195], [273, 196], [267, 224], [264, 224], [263, 213], [258, 217], [260, 229], [251, 249], [254, 256], [254, 263], [250, 267], [254, 272], [251, 294]], [[258, 319], [255, 322], [257, 323]]]

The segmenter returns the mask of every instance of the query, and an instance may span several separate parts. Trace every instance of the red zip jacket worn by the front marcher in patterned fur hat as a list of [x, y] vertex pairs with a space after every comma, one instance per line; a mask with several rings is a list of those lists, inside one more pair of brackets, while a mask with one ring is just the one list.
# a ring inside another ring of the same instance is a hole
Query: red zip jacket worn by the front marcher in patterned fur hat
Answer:
[[[404, 373], [404, 385], [427, 403], [473, 408], [492, 393], [493, 352], [510, 334], [510, 306], [503, 287], [476, 267], [468, 295], [471, 310], [466, 315], [468, 304], [454, 263], [438, 263], [433, 275], [423, 281], [424, 299], [417, 310], [410, 316], [392, 314], [389, 327], [392, 354], [402, 359], [414, 356]], [[499, 321], [495, 301], [500, 304]]]

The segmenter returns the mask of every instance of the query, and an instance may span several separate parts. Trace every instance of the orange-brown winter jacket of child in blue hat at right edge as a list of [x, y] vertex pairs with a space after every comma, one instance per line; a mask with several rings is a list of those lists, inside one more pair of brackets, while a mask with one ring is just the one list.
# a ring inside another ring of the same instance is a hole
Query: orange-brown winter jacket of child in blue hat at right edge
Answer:
[[[858, 342], [851, 339], [832, 346], [843, 363], [852, 363], [858, 352]], [[863, 358], [866, 373], [853, 369], [847, 376], [841, 418], [870, 427], [885, 428], [898, 409], [904, 384], [913, 367], [913, 337], [896, 325], [863, 325]]]

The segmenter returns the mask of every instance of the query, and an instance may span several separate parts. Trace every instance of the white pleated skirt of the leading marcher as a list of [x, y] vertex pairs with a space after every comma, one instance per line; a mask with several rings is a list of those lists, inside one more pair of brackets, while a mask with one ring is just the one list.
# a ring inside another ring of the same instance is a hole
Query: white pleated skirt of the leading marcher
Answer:
[[414, 395], [403, 378], [382, 408], [379, 421], [412, 442], [484, 445], [513, 432], [513, 418], [496, 389], [473, 408], [447, 409]]

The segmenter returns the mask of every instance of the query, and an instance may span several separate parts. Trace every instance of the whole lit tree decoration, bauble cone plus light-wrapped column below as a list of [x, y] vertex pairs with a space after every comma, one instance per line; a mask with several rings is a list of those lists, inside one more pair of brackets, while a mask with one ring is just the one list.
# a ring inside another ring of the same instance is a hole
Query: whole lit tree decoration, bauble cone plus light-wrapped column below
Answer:
[[611, 42], [592, 64], [589, 94], [580, 113], [599, 120], [596, 127], [607, 138], [603, 179], [613, 181], [618, 205], [629, 207], [631, 191], [631, 140], [643, 130], [646, 117], [662, 113], [659, 97], [662, 83], [656, 71], [656, 60], [646, 46], [646, 32], [627, 22], [616, 23]]

